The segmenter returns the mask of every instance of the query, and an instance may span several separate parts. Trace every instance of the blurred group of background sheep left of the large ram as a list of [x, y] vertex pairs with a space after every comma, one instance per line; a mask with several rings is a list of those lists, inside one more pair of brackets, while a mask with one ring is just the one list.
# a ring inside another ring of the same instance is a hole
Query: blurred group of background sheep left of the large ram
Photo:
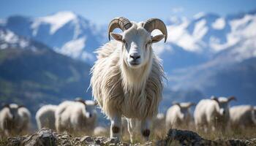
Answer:
[[[36, 114], [37, 128], [91, 134], [97, 123], [94, 101], [64, 101], [59, 105], [45, 105]], [[18, 104], [6, 104], [0, 112], [0, 128], [5, 135], [31, 131], [31, 113]]]

